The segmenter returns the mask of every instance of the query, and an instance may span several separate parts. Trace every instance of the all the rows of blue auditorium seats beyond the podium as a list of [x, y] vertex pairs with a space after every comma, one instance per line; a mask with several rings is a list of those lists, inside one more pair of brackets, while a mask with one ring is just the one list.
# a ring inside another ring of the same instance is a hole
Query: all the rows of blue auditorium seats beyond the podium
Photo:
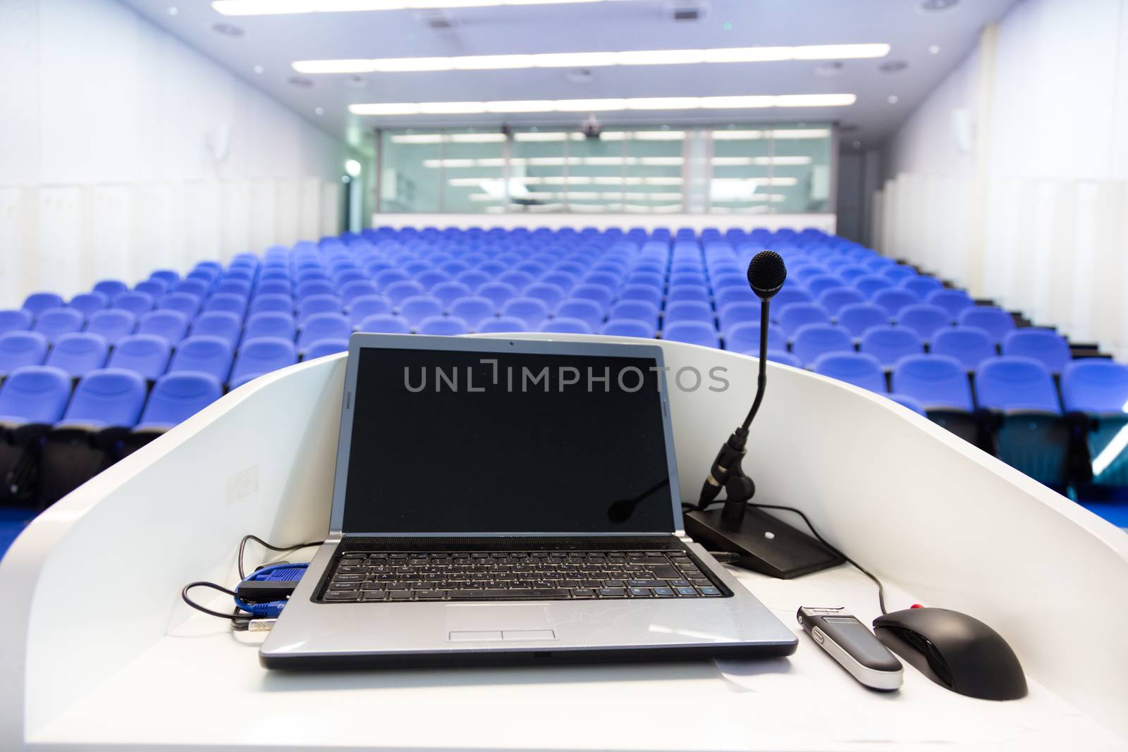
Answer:
[[[36, 293], [21, 309], [0, 311], [0, 378], [8, 374], [0, 399], [25, 369], [41, 381], [56, 382], [64, 373], [77, 382], [71, 402], [92, 388], [83, 386], [91, 379], [98, 384], [106, 373], [132, 371], [152, 389], [150, 401], [164, 399], [161, 390], [179, 395], [171, 401], [178, 400], [177, 415], [186, 417], [223, 389], [299, 359], [344, 350], [354, 330], [601, 333], [755, 353], [764, 322], [744, 269], [765, 248], [779, 253], [788, 267], [767, 322], [773, 360], [890, 393], [1056, 487], [1090, 480], [1128, 486], [1117, 476], [1119, 459], [1093, 479], [1082, 468], [1083, 454], [1103, 457], [1120, 442], [1120, 434], [1109, 433], [1118, 419], [1111, 414], [1122, 415], [1128, 387], [1117, 410], [1090, 416], [1099, 425], [1066, 421], [1065, 414], [1092, 412], [1057, 391], [1059, 383], [1065, 388], [1064, 373], [1089, 373], [1070, 370], [1082, 363], [1070, 362], [1065, 338], [1048, 329], [1016, 328], [1006, 311], [977, 306], [940, 280], [814, 230], [705, 230], [698, 236], [691, 230], [377, 228], [272, 247], [261, 257], [240, 254], [226, 268], [202, 262], [183, 278], [159, 269], [132, 287], [106, 280], [70, 301]], [[943, 372], [943, 383], [955, 389], [953, 363], [967, 398], [938, 400], [938, 392], [922, 384]], [[1128, 383], [1125, 366], [1103, 366], [1100, 379], [1113, 384], [1109, 390]], [[1011, 389], [1008, 379], [1031, 369], [1054, 390], [1054, 399], [1037, 409], [1057, 419], [1046, 421], [1052, 430], [1037, 440], [1023, 436], [1040, 450], [1023, 453], [1014, 451], [1021, 442], [1003, 417], [1034, 409], [1007, 397], [1025, 388], [1016, 382]], [[206, 387], [197, 381], [191, 395], [184, 391], [186, 374], [206, 377]], [[1085, 382], [1081, 375], [1070, 379]], [[995, 386], [985, 392], [987, 384]], [[1052, 410], [1043, 409], [1051, 402]], [[64, 426], [69, 410], [45, 417]], [[47, 425], [45, 417], [41, 425]], [[3, 419], [32, 422], [18, 414]], [[139, 421], [142, 427], [133, 431]], [[115, 418], [117, 434], [126, 433], [112, 445], [98, 444], [102, 461], [151, 436], [150, 423], [140, 407], [132, 422]], [[14, 432], [6, 435], [12, 443]], [[28, 457], [34, 444], [25, 448]], [[1052, 467], [1043, 471], [1041, 466]], [[50, 496], [39, 495], [45, 502], [53, 501]]]

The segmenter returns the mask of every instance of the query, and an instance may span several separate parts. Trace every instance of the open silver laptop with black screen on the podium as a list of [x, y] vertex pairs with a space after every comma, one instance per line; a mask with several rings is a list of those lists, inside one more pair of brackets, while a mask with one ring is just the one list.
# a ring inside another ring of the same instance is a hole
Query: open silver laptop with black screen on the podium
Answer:
[[354, 334], [329, 533], [262, 664], [793, 653], [684, 532], [663, 369], [658, 345]]

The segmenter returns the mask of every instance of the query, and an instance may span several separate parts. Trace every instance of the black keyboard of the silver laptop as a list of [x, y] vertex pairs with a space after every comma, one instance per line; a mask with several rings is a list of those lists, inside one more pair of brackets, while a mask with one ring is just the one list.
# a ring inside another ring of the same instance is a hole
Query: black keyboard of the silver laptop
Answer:
[[685, 551], [347, 551], [323, 602], [723, 598]]

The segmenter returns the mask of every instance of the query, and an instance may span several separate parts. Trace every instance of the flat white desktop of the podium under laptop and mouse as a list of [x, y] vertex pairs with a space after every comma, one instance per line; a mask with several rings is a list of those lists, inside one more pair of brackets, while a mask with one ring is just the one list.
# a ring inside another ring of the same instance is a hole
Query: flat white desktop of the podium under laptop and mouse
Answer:
[[[739, 576], [799, 634], [790, 658], [275, 673], [258, 665], [259, 635], [200, 614], [49, 722], [29, 749], [1128, 749], [1033, 676], [1011, 702], [958, 696], [909, 665], [898, 692], [862, 688], [795, 625], [801, 604], [872, 620], [876, 589], [853, 567], [790, 582]], [[913, 603], [887, 591], [891, 609]]]

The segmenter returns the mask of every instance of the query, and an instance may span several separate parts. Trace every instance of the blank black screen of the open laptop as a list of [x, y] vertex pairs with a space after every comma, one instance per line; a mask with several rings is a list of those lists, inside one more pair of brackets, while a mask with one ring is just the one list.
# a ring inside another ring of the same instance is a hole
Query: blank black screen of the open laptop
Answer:
[[675, 529], [651, 359], [361, 348], [343, 529]]

